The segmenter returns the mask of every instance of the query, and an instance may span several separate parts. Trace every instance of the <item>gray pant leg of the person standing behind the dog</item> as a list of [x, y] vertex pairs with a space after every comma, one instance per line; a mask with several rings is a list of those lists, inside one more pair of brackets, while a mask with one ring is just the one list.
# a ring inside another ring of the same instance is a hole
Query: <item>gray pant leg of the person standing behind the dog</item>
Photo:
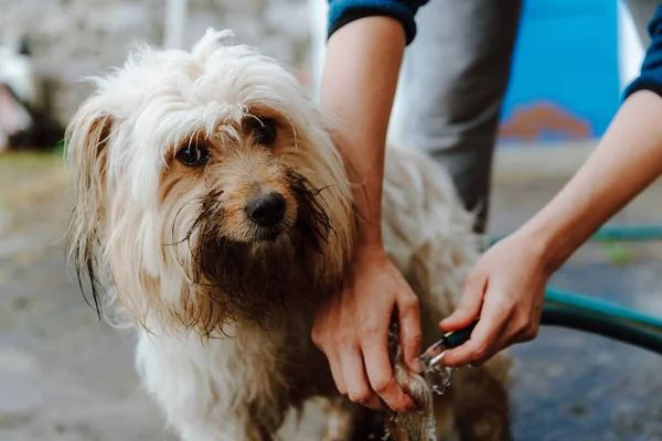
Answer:
[[521, 0], [430, 0], [404, 67], [406, 140], [447, 166], [483, 233]]

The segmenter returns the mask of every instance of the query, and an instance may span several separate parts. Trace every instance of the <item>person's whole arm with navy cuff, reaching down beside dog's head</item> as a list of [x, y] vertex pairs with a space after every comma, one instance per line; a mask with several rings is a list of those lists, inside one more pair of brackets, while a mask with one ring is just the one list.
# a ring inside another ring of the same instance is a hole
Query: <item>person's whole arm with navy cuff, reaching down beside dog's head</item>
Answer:
[[[388, 119], [414, 14], [425, 1], [332, 0], [322, 109], [342, 123], [338, 137], [354, 183], [357, 244], [342, 292], [316, 318], [312, 338], [351, 400], [393, 410], [414, 407], [395, 383], [387, 353], [394, 310], [405, 362], [421, 372], [418, 299], [382, 244], [382, 181]], [[376, 392], [376, 394], [375, 394]]]

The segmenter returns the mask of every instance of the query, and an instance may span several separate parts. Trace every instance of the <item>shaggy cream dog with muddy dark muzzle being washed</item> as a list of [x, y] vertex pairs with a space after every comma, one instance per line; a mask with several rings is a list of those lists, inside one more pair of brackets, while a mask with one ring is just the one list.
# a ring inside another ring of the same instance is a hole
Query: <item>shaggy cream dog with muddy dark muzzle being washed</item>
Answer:
[[[137, 368], [169, 424], [185, 441], [271, 440], [319, 399], [322, 439], [365, 439], [375, 416], [338, 392], [310, 337], [356, 236], [338, 125], [229, 31], [209, 30], [190, 52], [139, 46], [92, 82], [66, 131], [70, 254], [97, 311], [137, 329]], [[423, 153], [387, 149], [385, 176], [385, 247], [431, 344], [478, 256], [472, 216]], [[398, 383], [417, 402], [431, 397], [393, 347]], [[392, 437], [429, 440], [435, 424], [509, 439], [509, 370], [502, 355], [458, 370], [433, 421], [398, 416]]]

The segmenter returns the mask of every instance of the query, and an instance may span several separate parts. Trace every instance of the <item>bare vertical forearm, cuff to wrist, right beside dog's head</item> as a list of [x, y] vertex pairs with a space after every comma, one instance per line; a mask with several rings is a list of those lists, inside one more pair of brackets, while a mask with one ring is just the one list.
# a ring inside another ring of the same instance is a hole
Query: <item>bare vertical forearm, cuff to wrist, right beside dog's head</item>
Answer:
[[404, 50], [403, 25], [387, 17], [343, 26], [327, 50], [321, 105], [342, 123], [339, 148], [355, 184], [359, 239], [365, 244], [382, 244], [384, 149]]

